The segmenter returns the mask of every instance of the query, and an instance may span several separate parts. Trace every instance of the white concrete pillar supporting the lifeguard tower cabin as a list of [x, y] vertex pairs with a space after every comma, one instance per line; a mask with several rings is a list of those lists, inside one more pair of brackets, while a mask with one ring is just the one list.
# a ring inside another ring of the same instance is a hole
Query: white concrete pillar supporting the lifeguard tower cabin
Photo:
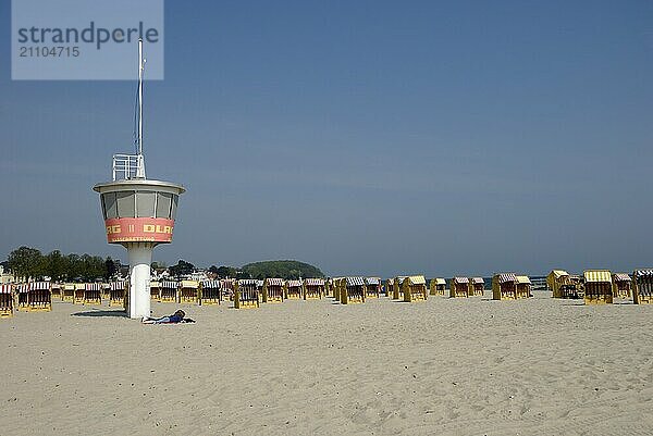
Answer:
[[150, 264], [155, 246], [147, 242], [125, 245], [130, 257], [130, 306], [132, 319], [150, 315]]

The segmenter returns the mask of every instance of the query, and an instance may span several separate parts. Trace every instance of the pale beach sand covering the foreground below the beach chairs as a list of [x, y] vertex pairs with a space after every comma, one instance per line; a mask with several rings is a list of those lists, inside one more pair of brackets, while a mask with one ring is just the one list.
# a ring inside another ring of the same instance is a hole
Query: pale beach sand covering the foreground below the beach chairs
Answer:
[[653, 434], [653, 307], [490, 297], [21, 312], [0, 435]]

